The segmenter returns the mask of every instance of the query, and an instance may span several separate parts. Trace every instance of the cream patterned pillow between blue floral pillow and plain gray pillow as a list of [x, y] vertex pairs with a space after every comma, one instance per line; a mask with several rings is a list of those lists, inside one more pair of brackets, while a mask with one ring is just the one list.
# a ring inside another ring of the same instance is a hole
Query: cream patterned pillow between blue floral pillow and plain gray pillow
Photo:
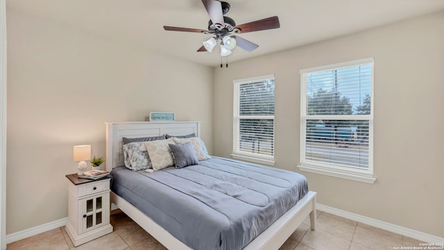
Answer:
[[174, 165], [173, 155], [171, 155], [171, 149], [169, 148], [169, 144], [175, 144], [173, 138], [144, 142], [144, 144], [154, 170]]

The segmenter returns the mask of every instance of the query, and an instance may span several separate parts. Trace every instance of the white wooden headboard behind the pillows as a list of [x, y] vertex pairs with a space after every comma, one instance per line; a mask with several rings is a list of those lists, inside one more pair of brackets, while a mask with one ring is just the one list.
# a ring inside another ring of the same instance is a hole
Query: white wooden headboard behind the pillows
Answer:
[[200, 122], [106, 122], [106, 170], [123, 166], [122, 138], [143, 138], [158, 135], [189, 135], [200, 137]]

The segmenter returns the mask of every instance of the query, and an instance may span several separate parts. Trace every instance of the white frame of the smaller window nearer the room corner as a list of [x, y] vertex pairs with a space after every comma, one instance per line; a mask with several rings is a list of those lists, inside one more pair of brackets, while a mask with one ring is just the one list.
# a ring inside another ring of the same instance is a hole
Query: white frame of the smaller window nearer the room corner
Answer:
[[[256, 76], [251, 78], [243, 78], [233, 81], [233, 148], [232, 148], [232, 158], [239, 160], [247, 160], [253, 163], [260, 163], [265, 165], [275, 165], [275, 152], [273, 149], [273, 156], [264, 155], [261, 153], [250, 153], [246, 151], [238, 150], [239, 145], [239, 126], [241, 115], [239, 115], [239, 86], [243, 83], [252, 83], [255, 81], [266, 81], [268, 79], [273, 79], [275, 84], [275, 75], [268, 74], [264, 76]], [[275, 102], [275, 101], [274, 101]], [[275, 114], [273, 115], [248, 115], [248, 119], [273, 119], [273, 147], [275, 144]]]

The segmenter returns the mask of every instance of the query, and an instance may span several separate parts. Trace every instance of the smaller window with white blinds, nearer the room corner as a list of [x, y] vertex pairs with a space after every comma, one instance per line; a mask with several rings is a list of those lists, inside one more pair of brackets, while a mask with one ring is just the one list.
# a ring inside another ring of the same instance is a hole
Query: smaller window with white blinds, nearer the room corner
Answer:
[[234, 81], [233, 158], [274, 165], [275, 79]]

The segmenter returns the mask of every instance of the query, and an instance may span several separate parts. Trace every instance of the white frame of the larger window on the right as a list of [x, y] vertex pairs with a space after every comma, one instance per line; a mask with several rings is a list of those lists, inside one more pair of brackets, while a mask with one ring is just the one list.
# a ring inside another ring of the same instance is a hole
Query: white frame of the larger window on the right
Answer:
[[[334, 165], [327, 165], [323, 163], [307, 162], [305, 159], [306, 149], [306, 135], [307, 135], [307, 120], [309, 119], [323, 119], [324, 115], [307, 115], [307, 82], [306, 75], [316, 72], [324, 72], [335, 69], [343, 69], [347, 67], [357, 67], [359, 65], [371, 65], [371, 81], [370, 81], [370, 115], [330, 115], [330, 119], [359, 119], [368, 120], [368, 169], [353, 169], [352, 167], [341, 167]], [[364, 58], [361, 60], [352, 60], [344, 63], [336, 63], [332, 65], [324, 65], [321, 67], [312, 67], [309, 69], [300, 70], [300, 163], [298, 168], [301, 171], [311, 172], [315, 174], [323, 174], [327, 176], [334, 176], [345, 178], [352, 181], [361, 181], [364, 183], [375, 183], [373, 171], [373, 133], [374, 133], [374, 79], [375, 67], [373, 58]]]

